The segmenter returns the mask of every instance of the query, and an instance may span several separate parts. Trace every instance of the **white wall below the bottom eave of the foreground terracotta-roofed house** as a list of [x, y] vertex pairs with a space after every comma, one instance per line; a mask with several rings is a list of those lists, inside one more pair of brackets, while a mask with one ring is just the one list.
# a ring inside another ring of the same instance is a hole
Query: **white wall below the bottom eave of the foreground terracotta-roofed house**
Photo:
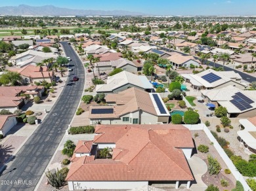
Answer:
[[77, 182], [68, 181], [68, 188], [70, 190], [86, 190], [86, 189], [133, 189], [142, 186], [147, 186], [148, 181], [91, 181], [91, 182]]

